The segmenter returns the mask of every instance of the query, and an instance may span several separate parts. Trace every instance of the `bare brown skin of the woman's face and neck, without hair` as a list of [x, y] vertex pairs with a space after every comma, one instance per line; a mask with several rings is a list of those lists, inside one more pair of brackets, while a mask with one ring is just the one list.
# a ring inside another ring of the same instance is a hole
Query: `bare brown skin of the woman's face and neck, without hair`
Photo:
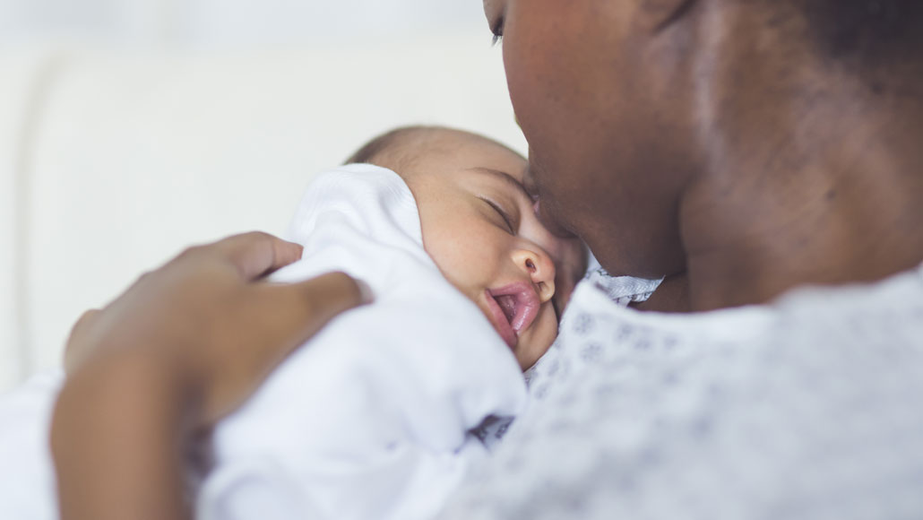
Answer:
[[485, 0], [541, 216], [694, 309], [923, 260], [917, 66], [818, 55], [785, 3]]

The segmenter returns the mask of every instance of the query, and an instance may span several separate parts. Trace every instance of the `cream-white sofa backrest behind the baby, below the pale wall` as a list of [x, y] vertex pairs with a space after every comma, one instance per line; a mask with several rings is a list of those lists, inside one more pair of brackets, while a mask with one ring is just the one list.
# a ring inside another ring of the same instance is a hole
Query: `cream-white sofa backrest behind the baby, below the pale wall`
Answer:
[[313, 173], [404, 124], [524, 151], [482, 36], [237, 54], [0, 50], [0, 392], [186, 245], [282, 233]]

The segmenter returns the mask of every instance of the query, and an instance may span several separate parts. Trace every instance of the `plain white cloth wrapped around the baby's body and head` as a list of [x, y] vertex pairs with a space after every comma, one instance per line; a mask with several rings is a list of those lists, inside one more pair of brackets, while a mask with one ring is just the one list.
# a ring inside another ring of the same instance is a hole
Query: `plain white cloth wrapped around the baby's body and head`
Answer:
[[426, 255], [413, 196], [390, 170], [320, 175], [289, 237], [305, 254], [276, 281], [340, 270], [376, 300], [333, 320], [222, 421], [198, 517], [431, 517], [484, 451], [466, 431], [524, 405], [514, 357]]

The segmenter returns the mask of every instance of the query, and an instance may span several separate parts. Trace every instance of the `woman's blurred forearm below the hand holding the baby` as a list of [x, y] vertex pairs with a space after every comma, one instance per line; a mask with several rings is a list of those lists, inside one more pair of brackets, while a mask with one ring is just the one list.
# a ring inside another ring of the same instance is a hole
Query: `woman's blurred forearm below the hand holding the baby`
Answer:
[[168, 366], [135, 353], [67, 381], [52, 428], [61, 517], [191, 518], [180, 455], [189, 405]]

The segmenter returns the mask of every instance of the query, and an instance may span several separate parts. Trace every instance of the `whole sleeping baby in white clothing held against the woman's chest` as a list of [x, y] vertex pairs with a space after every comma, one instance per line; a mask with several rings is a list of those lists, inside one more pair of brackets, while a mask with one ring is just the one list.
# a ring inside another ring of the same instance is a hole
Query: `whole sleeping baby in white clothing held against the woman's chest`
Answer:
[[525, 160], [495, 141], [402, 128], [350, 163], [312, 182], [288, 236], [304, 258], [271, 280], [345, 271], [375, 301], [217, 427], [198, 518], [438, 513], [492, 437], [470, 431], [521, 411], [521, 370], [586, 271], [582, 244], [536, 218]]

